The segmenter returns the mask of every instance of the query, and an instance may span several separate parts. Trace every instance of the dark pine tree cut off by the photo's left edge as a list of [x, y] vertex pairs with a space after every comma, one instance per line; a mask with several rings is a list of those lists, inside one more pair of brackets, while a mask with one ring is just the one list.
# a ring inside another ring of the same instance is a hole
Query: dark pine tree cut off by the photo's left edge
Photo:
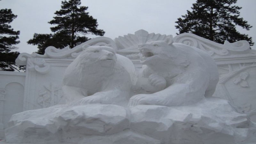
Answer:
[[12, 50], [17, 49], [17, 47], [12, 45], [20, 43], [20, 41], [17, 41], [20, 31], [14, 31], [12, 27], [8, 25], [16, 17], [17, 15], [14, 15], [11, 9], [0, 10], [0, 70], [18, 70], [15, 59], [20, 53], [13, 52]]

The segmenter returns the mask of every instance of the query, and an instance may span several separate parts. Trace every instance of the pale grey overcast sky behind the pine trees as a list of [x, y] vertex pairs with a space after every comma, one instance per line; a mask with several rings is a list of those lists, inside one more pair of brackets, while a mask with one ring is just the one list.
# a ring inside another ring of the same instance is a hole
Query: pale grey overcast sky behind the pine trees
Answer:
[[[0, 9], [12, 9], [18, 17], [11, 26], [20, 30], [20, 44], [17, 51], [32, 53], [37, 51], [34, 45], [27, 41], [34, 33], [51, 33], [48, 21], [60, 10], [62, 0], [1, 0]], [[178, 29], [175, 21], [191, 10], [196, 0], [81, 0], [81, 5], [88, 6], [87, 12], [98, 20], [98, 28], [106, 33], [104, 36], [112, 39], [128, 33], [144, 29], [149, 33], [160, 33], [176, 36]], [[237, 28], [240, 33], [248, 34], [255, 43], [256, 49], [256, 0], [237, 0], [241, 17], [252, 25], [251, 30]], [[88, 36], [89, 38], [97, 36]]]

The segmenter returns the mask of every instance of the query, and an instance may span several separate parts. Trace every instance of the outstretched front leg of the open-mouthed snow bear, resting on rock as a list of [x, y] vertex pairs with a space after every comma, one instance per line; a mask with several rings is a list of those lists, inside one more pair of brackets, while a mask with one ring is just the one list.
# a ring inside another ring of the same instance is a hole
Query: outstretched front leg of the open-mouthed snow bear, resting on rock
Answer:
[[136, 105], [184, 106], [204, 98], [209, 85], [205, 71], [194, 71], [176, 77], [174, 84], [152, 94], [139, 94], [131, 97], [129, 107]]

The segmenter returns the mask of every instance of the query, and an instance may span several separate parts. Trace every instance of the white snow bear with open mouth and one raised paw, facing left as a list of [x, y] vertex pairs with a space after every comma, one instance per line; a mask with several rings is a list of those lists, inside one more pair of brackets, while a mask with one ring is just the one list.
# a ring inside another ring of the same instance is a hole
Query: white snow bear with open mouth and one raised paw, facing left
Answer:
[[138, 47], [140, 61], [146, 65], [143, 76], [148, 79], [148, 84], [141, 87], [151, 94], [134, 95], [129, 101], [130, 107], [141, 104], [182, 106], [214, 93], [219, 73], [215, 61], [206, 52], [173, 43], [172, 37], [164, 41], [150, 40]]

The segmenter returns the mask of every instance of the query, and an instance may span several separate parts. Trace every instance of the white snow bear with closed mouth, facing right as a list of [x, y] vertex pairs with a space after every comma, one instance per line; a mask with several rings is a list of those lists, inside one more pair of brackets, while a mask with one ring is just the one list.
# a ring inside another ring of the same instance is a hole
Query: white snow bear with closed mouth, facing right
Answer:
[[131, 60], [109, 46], [84, 45], [83, 49], [64, 73], [62, 90], [67, 103], [128, 101], [132, 82], [127, 66], [133, 66]]

